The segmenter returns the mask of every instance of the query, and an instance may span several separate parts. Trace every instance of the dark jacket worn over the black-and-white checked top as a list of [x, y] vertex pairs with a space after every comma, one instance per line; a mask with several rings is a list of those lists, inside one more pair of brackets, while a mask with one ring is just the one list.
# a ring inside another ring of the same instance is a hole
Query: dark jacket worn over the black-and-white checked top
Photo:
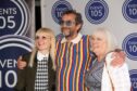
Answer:
[[[37, 55], [37, 54], [36, 54]], [[23, 55], [23, 60], [28, 64], [30, 53]], [[52, 60], [48, 60], [48, 87], [49, 91], [55, 91], [55, 70], [52, 68]], [[37, 70], [37, 57], [35, 57], [33, 67], [26, 66], [24, 69], [17, 69], [17, 83], [15, 91], [35, 91], [35, 78]]]

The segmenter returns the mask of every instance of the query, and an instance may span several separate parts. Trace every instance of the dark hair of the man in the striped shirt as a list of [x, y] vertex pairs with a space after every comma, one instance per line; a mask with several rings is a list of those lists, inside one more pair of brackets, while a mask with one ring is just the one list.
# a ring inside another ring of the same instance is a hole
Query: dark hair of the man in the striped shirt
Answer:
[[[82, 18], [82, 14], [80, 13], [76, 12], [75, 10], [68, 10], [68, 11], [63, 12], [62, 13], [62, 16], [63, 15], [66, 15], [66, 14], [74, 14], [76, 16], [76, 18], [75, 18], [76, 25], [82, 24], [82, 26], [83, 26], [83, 23], [84, 22], [83, 22], [83, 18]], [[78, 31], [82, 29], [82, 26], [78, 29]]]

